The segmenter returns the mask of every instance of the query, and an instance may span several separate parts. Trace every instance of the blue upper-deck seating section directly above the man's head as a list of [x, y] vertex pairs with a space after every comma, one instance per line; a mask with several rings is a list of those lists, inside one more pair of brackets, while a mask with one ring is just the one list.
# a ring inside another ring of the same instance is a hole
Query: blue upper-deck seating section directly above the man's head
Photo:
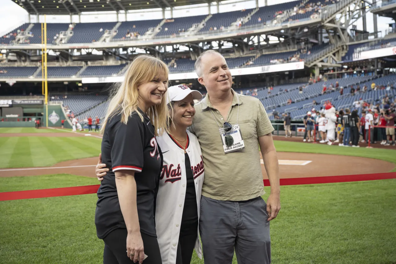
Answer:
[[253, 9], [246, 9], [245, 11], [231, 11], [225, 13], [215, 13], [211, 18], [206, 21], [205, 27], [203, 27], [200, 31], [209, 31], [210, 28], [214, 30], [216, 27], [217, 30], [220, 29], [221, 26], [227, 28], [232, 23], [236, 22], [236, 20], [240, 17], [246, 17], [251, 13]]

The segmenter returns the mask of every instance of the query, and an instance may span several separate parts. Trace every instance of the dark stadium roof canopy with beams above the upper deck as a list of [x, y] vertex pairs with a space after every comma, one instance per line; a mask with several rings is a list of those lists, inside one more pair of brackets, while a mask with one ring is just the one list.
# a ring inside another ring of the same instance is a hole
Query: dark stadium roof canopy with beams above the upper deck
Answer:
[[[32, 15], [70, 15], [81, 12], [127, 11], [208, 4], [207, 0], [11, 0]], [[217, 2], [217, 1], [216, 1]]]

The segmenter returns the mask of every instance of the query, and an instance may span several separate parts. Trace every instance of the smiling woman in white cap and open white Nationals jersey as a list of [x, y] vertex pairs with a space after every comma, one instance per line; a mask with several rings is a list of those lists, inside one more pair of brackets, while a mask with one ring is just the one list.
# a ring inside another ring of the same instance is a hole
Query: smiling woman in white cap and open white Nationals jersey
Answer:
[[[163, 264], [189, 264], [194, 249], [202, 258], [198, 219], [204, 163], [198, 139], [187, 130], [195, 115], [194, 99], [202, 94], [185, 85], [169, 87], [169, 134], [156, 137], [164, 156], [155, 211]], [[96, 175], [103, 180], [107, 169], [100, 163]]]

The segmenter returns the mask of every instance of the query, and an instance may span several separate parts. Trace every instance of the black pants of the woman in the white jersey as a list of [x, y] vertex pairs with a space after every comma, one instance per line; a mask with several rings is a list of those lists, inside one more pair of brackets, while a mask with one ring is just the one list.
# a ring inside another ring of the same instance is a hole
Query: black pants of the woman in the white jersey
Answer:
[[190, 223], [181, 223], [179, 245], [177, 245], [176, 264], [190, 264], [195, 241], [198, 236], [198, 219]]

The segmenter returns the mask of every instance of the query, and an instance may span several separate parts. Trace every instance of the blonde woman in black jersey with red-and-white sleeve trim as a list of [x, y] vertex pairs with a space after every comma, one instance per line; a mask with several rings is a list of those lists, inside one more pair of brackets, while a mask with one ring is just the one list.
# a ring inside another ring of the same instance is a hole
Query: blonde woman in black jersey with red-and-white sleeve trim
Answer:
[[167, 88], [167, 65], [141, 55], [110, 99], [101, 128], [101, 158], [109, 171], [95, 212], [104, 264], [162, 264], [154, 211], [163, 156], [156, 136], [168, 130]]

